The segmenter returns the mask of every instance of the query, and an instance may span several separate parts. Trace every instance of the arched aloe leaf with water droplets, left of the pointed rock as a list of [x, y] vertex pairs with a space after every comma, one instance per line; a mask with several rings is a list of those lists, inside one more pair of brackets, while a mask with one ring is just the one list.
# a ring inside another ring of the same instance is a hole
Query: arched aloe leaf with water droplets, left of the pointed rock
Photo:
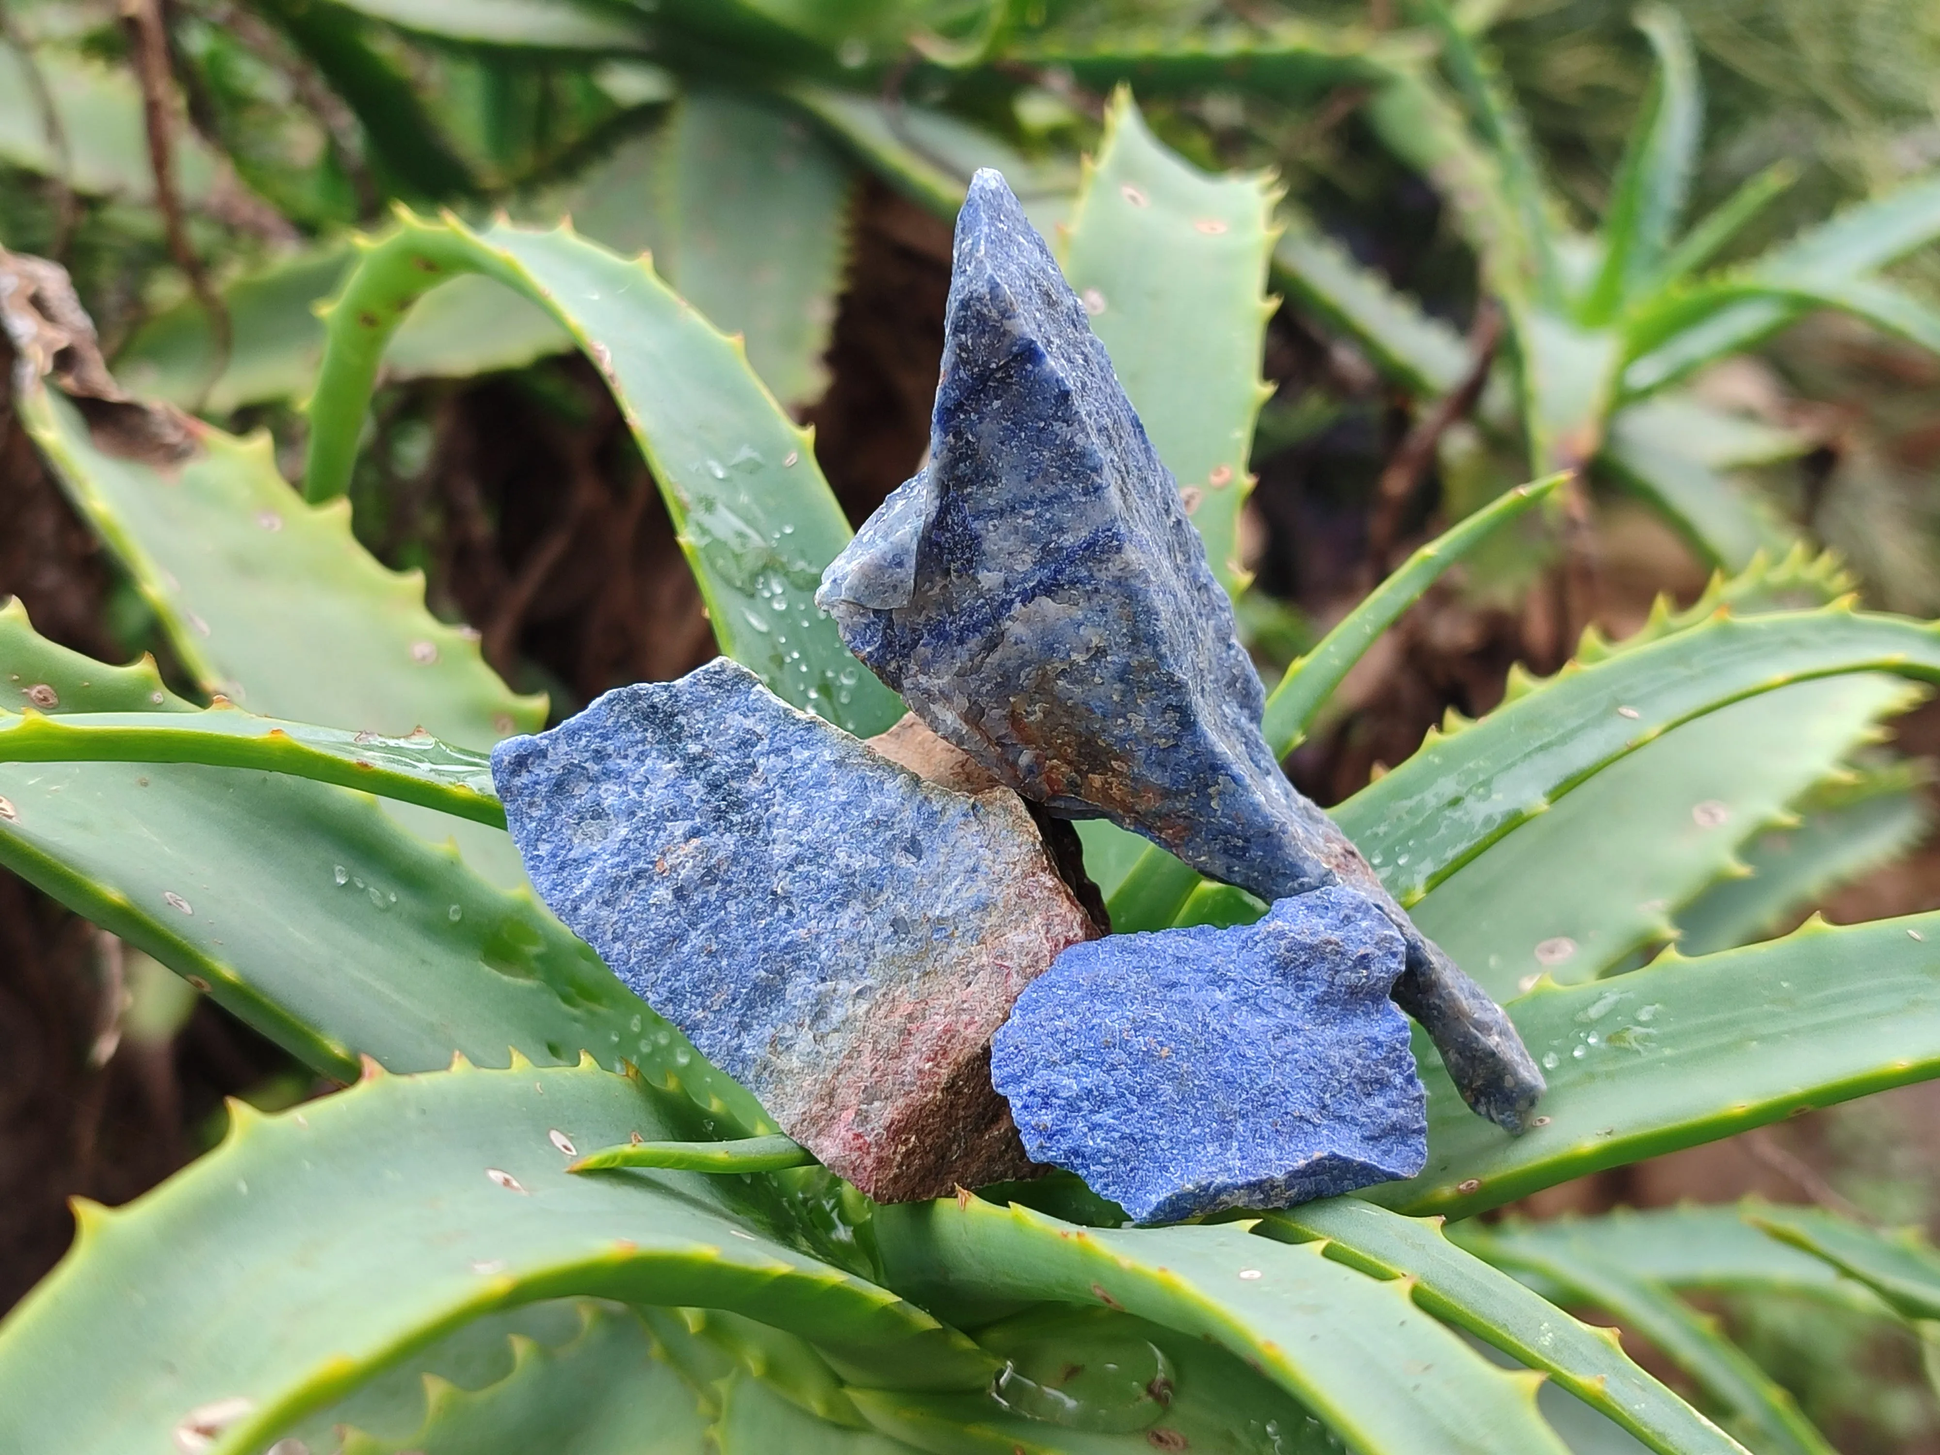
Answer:
[[452, 274], [477, 272], [543, 303], [619, 398], [681, 535], [714, 634], [782, 698], [857, 733], [900, 716], [815, 607], [823, 566], [850, 537], [809, 431], [747, 367], [741, 345], [667, 289], [568, 229], [504, 223], [473, 233], [409, 213], [365, 248], [330, 310], [330, 349], [310, 400], [307, 493], [341, 493], [384, 343], [398, 318]]

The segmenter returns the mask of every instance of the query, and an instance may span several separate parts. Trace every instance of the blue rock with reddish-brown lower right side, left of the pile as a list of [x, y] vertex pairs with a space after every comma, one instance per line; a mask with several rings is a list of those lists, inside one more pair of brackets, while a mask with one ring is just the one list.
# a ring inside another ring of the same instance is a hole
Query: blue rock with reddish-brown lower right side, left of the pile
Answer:
[[553, 912], [871, 1197], [1028, 1170], [989, 1036], [1098, 933], [1005, 788], [958, 793], [716, 660], [493, 751]]

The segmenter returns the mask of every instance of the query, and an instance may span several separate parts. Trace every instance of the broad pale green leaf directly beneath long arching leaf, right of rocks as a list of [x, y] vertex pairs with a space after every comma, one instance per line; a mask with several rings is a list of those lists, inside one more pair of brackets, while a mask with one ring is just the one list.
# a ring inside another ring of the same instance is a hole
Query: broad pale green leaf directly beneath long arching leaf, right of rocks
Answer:
[[1853, 673], [1793, 683], [1655, 737], [1436, 885], [1410, 914], [1498, 999], [1595, 980], [1676, 935], [1738, 846], [1882, 735], [1921, 693]]

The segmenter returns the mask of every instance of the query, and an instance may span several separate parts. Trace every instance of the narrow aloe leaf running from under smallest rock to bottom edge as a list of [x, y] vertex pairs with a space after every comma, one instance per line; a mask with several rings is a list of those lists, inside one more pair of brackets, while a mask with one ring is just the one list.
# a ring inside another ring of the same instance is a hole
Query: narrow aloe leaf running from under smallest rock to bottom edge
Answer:
[[1401, 1218], [1352, 1197], [1267, 1214], [1259, 1230], [1323, 1242], [1327, 1255], [1377, 1278], [1412, 1278], [1414, 1302], [1457, 1329], [1542, 1370], [1562, 1389], [1661, 1455], [1742, 1455], [1744, 1447], [1639, 1370], [1608, 1329], [1595, 1329], [1441, 1236], [1434, 1218]]

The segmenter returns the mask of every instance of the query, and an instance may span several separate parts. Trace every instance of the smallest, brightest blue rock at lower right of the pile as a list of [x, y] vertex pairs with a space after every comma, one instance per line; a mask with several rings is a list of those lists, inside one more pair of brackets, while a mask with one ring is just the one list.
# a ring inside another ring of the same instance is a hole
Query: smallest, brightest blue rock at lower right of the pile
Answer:
[[1428, 1098], [1389, 999], [1405, 954], [1346, 889], [1075, 945], [1018, 997], [991, 1079], [1032, 1158], [1137, 1222], [1412, 1178]]

